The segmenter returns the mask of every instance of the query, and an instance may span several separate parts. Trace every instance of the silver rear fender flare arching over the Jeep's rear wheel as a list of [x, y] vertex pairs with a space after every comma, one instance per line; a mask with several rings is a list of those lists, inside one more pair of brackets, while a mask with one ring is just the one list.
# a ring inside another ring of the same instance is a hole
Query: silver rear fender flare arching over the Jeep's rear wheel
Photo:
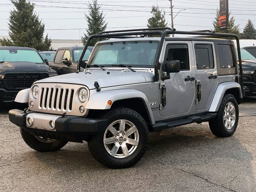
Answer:
[[224, 97], [225, 92], [228, 89], [231, 88], [236, 88], [239, 91], [239, 97], [243, 98], [243, 94], [242, 94], [242, 89], [240, 84], [236, 83], [236, 82], [224, 82], [218, 85], [216, 92], [214, 94], [209, 112], [216, 112], [218, 111], [219, 107], [220, 107], [220, 103], [222, 101], [222, 98]]

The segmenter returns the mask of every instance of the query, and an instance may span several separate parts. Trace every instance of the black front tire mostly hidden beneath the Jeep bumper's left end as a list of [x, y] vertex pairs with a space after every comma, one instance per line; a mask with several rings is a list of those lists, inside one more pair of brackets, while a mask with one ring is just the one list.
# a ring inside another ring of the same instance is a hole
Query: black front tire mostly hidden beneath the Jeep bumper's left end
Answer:
[[64, 147], [68, 142], [61, 140], [53, 140], [52, 142], [41, 142], [36, 138], [36, 136], [28, 133], [24, 129], [20, 128], [20, 134], [24, 142], [30, 146], [30, 148], [39, 152], [52, 152], [57, 151]]

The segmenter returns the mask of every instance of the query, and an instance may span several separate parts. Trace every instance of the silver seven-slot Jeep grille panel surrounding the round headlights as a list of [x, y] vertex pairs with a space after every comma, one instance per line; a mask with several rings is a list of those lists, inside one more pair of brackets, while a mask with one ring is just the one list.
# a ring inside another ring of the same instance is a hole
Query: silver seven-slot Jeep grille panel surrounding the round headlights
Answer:
[[[48, 114], [63, 114], [74, 116], [86, 116], [89, 110], [80, 113], [80, 106], [86, 108], [86, 102], [80, 102], [78, 98], [78, 91], [85, 88], [88, 91], [88, 98], [90, 91], [86, 86], [79, 84], [66, 83], [35, 83], [39, 88], [38, 98], [32, 96], [30, 91], [28, 103], [33, 102], [33, 106], [29, 105], [31, 111], [48, 113]], [[32, 85], [32, 87], [34, 87]]]

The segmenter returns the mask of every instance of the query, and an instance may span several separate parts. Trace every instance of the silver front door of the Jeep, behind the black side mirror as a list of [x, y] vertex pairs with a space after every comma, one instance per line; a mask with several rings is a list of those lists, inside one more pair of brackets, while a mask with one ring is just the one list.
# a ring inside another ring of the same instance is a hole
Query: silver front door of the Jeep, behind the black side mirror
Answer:
[[[166, 106], [160, 110], [161, 116], [185, 114], [194, 103], [194, 60], [192, 42], [166, 42], [164, 62], [179, 60], [180, 72], [171, 73], [170, 79], [161, 81], [166, 86]], [[161, 78], [160, 78], [161, 79]]]

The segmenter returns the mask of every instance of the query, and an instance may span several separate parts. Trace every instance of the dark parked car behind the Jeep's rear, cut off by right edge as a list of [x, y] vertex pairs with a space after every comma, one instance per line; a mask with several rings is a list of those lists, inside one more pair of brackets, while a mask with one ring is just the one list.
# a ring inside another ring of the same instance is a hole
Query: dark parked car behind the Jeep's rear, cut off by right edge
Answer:
[[245, 49], [240, 49], [240, 52], [245, 96], [256, 96], [256, 58]]

